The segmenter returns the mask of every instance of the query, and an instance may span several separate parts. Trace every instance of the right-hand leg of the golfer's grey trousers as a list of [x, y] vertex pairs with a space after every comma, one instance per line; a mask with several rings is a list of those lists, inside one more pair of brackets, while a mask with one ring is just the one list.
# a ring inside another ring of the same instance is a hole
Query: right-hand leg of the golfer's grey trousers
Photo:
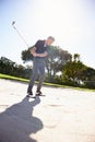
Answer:
[[45, 63], [41, 63], [39, 66], [39, 80], [38, 80], [38, 84], [37, 84], [37, 91], [40, 91], [44, 79], [45, 79]]

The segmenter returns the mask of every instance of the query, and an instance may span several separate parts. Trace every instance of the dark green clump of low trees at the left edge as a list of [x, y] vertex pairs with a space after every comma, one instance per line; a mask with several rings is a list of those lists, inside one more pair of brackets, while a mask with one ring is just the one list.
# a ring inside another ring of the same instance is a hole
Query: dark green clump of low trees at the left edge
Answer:
[[28, 79], [31, 72], [32, 69], [29, 67], [16, 64], [5, 57], [1, 57], [0, 59], [0, 73]]

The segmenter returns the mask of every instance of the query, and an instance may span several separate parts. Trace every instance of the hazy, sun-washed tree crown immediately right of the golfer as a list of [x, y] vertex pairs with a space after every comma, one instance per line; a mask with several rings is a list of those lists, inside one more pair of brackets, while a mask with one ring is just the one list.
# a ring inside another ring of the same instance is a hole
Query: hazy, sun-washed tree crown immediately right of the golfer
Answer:
[[47, 60], [47, 70], [49, 74], [56, 75], [57, 72], [62, 71], [63, 66], [71, 60], [71, 55], [60, 47], [51, 46], [49, 49], [49, 58]]

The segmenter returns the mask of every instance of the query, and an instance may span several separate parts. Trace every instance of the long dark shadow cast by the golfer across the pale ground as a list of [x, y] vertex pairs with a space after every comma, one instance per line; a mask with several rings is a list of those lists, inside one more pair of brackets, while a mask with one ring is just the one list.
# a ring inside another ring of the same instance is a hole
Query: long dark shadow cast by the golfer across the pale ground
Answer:
[[33, 116], [33, 110], [40, 103], [39, 97], [32, 102], [24, 98], [0, 114], [0, 142], [37, 142], [32, 138], [43, 129], [43, 122]]

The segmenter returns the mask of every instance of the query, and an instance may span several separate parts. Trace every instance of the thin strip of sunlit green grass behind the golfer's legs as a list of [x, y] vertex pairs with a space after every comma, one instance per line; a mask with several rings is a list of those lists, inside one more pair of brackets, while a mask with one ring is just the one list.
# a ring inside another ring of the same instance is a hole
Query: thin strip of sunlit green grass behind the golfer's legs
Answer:
[[[28, 81], [29, 81], [27, 79], [16, 78], [16, 76], [1, 74], [1, 73], [0, 73], [0, 79], [20, 81], [20, 82], [23, 82], [23, 83], [28, 83]], [[37, 82], [35, 82], [35, 83], [37, 83]], [[52, 83], [46, 83], [46, 82], [44, 82], [44, 85], [52, 86], [52, 87], [66, 87], [66, 88], [74, 88], [74, 90], [94, 91], [95, 92], [95, 90], [74, 87], [74, 86], [67, 86], [67, 85], [60, 85], [60, 84], [52, 84]]]

